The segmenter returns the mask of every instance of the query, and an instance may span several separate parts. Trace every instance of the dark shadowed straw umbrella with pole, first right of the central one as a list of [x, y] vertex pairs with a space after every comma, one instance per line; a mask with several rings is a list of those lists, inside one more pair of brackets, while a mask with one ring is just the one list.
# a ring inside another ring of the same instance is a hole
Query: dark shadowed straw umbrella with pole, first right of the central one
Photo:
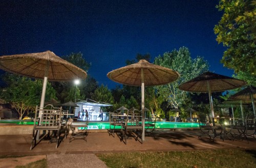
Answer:
[[191, 79], [179, 86], [180, 90], [188, 92], [203, 92], [209, 94], [209, 102], [211, 109], [212, 123], [214, 122], [214, 106], [212, 105], [211, 92], [223, 92], [226, 90], [232, 90], [240, 88], [246, 85], [246, 81], [235, 79], [232, 77], [205, 72], [194, 79]]

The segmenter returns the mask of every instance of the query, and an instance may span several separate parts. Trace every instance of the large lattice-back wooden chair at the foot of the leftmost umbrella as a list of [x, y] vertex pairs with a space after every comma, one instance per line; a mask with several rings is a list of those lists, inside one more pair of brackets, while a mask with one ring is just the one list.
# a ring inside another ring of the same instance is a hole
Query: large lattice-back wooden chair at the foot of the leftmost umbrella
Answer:
[[[48, 136], [48, 138], [50, 138], [51, 141], [53, 140], [53, 138], [55, 138], [55, 148], [57, 149], [59, 145], [60, 128], [63, 119], [61, 111], [62, 107], [55, 108], [52, 105], [47, 105], [44, 107], [44, 109], [40, 109], [40, 107], [36, 106], [33, 127], [33, 138], [30, 150], [32, 150], [46, 136]], [[41, 118], [39, 118], [40, 116]], [[43, 134], [38, 135], [40, 131], [43, 131]], [[50, 134], [51, 131], [52, 134]], [[54, 137], [51, 137], [52, 135]], [[38, 136], [39, 138], [37, 139]]]

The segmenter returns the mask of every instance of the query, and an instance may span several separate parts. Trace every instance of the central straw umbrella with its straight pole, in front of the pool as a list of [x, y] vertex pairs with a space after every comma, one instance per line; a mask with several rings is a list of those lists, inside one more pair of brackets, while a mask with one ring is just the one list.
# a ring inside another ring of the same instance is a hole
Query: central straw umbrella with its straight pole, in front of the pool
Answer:
[[113, 70], [107, 76], [123, 85], [141, 86], [142, 141], [144, 141], [144, 86], [165, 85], [178, 79], [179, 73], [172, 69], [148, 63], [146, 60], [140, 60], [138, 63]]

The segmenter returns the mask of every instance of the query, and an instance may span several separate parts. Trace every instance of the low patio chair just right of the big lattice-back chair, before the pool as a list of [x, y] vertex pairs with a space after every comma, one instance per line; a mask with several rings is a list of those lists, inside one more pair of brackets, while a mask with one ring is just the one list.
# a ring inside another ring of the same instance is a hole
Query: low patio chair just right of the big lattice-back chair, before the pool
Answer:
[[87, 142], [87, 135], [89, 133], [88, 128], [88, 122], [74, 122], [73, 119], [70, 119], [69, 121], [69, 127], [72, 131], [71, 136], [69, 138], [69, 142], [74, 141], [75, 139], [83, 139]]

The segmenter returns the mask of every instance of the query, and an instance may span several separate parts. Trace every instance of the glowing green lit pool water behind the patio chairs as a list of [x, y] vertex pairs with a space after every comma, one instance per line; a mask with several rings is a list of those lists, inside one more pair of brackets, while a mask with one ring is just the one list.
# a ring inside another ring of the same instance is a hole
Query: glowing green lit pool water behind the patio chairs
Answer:
[[[32, 121], [23, 121], [23, 120], [1, 120], [0, 123], [8, 123], [8, 124], [17, 124], [17, 125], [33, 125]], [[111, 126], [111, 128], [114, 128]], [[116, 129], [120, 129], [121, 127], [116, 126]], [[156, 129], [172, 129], [172, 128], [199, 128], [198, 123], [177, 123], [177, 122], [156, 122]], [[90, 122], [88, 125], [88, 129], [110, 129], [109, 122]]]

